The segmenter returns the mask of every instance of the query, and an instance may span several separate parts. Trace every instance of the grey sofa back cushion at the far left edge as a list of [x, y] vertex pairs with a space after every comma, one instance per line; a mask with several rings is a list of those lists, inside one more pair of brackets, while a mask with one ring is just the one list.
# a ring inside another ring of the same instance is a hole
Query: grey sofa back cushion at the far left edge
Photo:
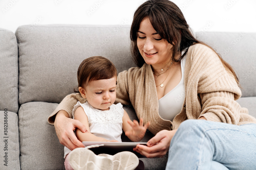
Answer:
[[0, 110], [18, 112], [18, 47], [12, 31], [0, 28]]

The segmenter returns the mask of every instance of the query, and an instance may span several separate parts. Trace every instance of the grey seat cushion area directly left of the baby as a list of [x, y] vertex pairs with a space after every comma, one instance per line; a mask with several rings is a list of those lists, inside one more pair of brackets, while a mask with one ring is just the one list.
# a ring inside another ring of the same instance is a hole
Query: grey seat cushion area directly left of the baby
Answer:
[[47, 117], [58, 104], [28, 102], [19, 109], [20, 169], [65, 169], [63, 146]]

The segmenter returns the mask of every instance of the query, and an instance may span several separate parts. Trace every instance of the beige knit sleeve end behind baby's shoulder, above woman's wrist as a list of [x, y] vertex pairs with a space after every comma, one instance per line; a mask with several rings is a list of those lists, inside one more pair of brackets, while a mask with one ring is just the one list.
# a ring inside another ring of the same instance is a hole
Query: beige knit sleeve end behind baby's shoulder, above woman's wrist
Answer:
[[80, 101], [81, 103], [85, 103], [86, 99], [82, 98], [81, 95], [78, 95], [78, 93], [72, 93], [70, 95], [67, 95], [48, 117], [48, 123], [54, 124], [55, 116], [60, 110], [66, 111], [69, 117], [73, 118], [72, 110], [74, 108], [74, 105], [76, 105], [78, 101]]

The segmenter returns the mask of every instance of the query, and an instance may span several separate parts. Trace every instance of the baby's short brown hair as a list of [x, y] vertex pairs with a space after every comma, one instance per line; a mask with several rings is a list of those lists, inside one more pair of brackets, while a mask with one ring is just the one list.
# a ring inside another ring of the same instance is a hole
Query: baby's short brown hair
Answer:
[[[93, 56], [83, 60], [77, 70], [78, 87], [85, 87], [93, 80], [117, 77], [114, 64], [102, 56]], [[78, 88], [77, 87], [77, 88]], [[79, 93], [74, 89], [74, 92]]]

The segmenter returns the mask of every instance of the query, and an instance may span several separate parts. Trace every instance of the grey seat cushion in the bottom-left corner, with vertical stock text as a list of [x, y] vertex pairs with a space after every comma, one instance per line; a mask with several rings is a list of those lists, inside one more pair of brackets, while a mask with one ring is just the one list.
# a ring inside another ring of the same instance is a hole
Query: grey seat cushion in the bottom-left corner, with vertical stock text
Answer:
[[8, 109], [0, 111], [0, 169], [20, 169], [18, 115]]

